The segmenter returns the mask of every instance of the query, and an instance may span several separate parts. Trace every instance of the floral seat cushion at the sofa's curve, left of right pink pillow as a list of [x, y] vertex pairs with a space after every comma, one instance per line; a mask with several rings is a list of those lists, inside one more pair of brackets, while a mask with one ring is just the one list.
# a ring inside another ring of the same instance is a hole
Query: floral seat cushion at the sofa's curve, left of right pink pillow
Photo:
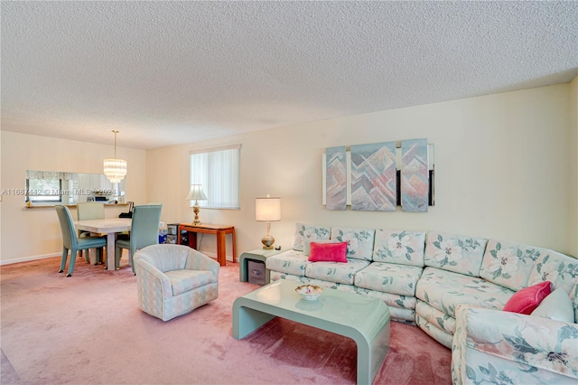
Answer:
[[425, 268], [417, 282], [415, 296], [455, 318], [458, 304], [501, 310], [514, 292], [479, 277], [466, 276], [441, 268]]

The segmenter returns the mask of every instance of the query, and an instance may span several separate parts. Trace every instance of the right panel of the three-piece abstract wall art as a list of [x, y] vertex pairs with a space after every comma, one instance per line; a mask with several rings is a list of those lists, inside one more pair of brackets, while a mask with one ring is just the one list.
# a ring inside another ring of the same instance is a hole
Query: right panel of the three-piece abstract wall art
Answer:
[[427, 154], [427, 139], [402, 140], [402, 211], [427, 211], [429, 201], [429, 171]]

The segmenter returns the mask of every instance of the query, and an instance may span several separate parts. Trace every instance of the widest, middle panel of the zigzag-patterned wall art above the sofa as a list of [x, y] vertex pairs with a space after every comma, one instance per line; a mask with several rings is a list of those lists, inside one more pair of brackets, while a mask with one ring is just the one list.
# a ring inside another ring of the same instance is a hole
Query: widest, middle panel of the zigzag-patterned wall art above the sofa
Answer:
[[351, 146], [351, 210], [396, 211], [396, 142]]

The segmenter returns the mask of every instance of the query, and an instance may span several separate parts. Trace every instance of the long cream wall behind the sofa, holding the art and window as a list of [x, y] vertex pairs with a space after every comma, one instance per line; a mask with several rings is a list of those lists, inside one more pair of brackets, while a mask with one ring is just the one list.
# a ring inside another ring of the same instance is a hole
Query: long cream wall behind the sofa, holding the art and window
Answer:
[[[277, 244], [290, 248], [294, 224], [441, 230], [508, 239], [568, 253], [576, 221], [571, 192], [570, 85], [527, 89], [413, 108], [342, 117], [147, 151], [147, 200], [163, 221], [192, 219], [188, 152], [240, 143], [241, 210], [201, 209], [200, 220], [231, 224], [241, 252], [261, 247], [265, 224], [255, 198], [282, 198]], [[325, 147], [427, 137], [435, 145], [436, 205], [427, 213], [328, 211], [322, 205]], [[200, 249], [214, 252], [206, 236]], [[230, 255], [230, 249], [228, 254]]]

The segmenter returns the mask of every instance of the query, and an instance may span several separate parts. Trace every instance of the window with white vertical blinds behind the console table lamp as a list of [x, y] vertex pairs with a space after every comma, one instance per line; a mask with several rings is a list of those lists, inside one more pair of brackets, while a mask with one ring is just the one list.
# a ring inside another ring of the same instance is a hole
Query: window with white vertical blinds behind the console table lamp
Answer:
[[202, 185], [207, 201], [201, 207], [240, 209], [241, 146], [191, 151], [191, 184]]

